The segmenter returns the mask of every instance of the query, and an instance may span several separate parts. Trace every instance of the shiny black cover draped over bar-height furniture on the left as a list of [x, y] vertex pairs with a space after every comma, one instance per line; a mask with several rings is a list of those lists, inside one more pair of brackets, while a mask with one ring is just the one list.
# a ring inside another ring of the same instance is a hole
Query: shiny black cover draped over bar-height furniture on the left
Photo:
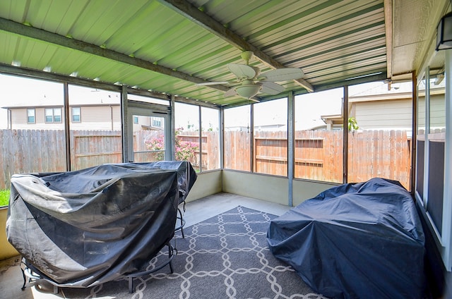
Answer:
[[174, 236], [191, 164], [104, 164], [11, 178], [8, 241], [43, 279], [89, 287], [142, 270]]

